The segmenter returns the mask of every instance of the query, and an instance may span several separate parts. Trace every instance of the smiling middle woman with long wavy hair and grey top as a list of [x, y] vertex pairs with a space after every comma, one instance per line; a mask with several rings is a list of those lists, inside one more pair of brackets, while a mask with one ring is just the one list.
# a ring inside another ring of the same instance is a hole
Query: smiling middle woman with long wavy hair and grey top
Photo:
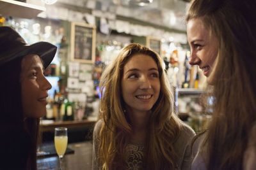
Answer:
[[100, 79], [93, 169], [190, 169], [195, 132], [173, 113], [173, 92], [159, 55], [132, 43]]

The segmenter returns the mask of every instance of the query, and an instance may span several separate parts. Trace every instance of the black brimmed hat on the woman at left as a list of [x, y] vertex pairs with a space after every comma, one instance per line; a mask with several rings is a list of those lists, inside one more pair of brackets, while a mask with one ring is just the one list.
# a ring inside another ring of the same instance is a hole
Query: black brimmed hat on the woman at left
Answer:
[[44, 41], [28, 45], [12, 27], [0, 27], [0, 66], [17, 57], [36, 54], [44, 61], [46, 68], [52, 62], [56, 50], [57, 46]]

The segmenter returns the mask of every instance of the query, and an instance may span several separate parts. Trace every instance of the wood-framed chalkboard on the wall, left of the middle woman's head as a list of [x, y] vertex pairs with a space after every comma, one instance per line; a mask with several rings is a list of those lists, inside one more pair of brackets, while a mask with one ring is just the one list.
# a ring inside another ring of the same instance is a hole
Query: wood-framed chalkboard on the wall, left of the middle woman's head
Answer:
[[72, 22], [71, 23], [71, 60], [95, 62], [95, 26]]

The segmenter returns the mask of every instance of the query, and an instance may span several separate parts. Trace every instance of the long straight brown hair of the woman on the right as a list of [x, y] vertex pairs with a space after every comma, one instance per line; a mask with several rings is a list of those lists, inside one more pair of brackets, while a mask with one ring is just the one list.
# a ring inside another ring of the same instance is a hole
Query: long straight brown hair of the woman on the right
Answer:
[[207, 169], [243, 169], [256, 121], [255, 9], [254, 0], [194, 0], [188, 11], [187, 22], [199, 18], [219, 43], [210, 77], [214, 113], [202, 148]]

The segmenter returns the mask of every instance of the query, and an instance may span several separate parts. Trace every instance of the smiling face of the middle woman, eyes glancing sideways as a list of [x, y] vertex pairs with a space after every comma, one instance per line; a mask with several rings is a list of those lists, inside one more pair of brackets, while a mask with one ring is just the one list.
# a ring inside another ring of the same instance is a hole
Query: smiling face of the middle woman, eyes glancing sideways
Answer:
[[121, 87], [127, 111], [151, 110], [161, 87], [155, 60], [145, 54], [133, 55], [124, 66]]

